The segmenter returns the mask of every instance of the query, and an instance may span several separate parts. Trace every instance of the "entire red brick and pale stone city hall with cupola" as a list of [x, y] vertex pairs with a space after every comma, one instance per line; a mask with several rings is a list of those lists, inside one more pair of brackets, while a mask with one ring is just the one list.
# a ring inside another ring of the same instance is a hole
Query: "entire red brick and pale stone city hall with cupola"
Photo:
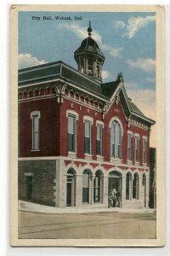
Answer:
[[91, 36], [63, 61], [19, 70], [19, 200], [52, 207], [149, 206], [150, 127]]

